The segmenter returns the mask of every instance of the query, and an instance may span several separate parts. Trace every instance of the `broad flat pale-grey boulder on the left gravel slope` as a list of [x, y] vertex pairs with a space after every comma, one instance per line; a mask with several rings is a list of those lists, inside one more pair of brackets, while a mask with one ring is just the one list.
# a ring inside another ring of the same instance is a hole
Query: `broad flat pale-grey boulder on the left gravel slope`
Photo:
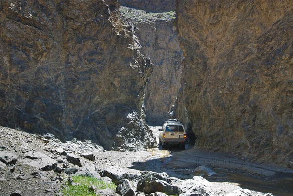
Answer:
[[25, 152], [23, 163], [36, 167], [40, 170], [49, 171], [57, 167], [57, 163], [52, 158], [41, 152]]

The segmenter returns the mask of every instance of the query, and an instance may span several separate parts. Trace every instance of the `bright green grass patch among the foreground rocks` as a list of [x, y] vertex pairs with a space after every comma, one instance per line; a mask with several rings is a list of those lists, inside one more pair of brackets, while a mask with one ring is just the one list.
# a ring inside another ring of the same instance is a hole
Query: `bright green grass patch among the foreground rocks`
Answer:
[[116, 189], [114, 183], [107, 183], [103, 180], [87, 177], [87, 176], [72, 176], [73, 183], [66, 183], [62, 193], [63, 196], [96, 196], [94, 190], [90, 189], [90, 186], [94, 186], [96, 189]]

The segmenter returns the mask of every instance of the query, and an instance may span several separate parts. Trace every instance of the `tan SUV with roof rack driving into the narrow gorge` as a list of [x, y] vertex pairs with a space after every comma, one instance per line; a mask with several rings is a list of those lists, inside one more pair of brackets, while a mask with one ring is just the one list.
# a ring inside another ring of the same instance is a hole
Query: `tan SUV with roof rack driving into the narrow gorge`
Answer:
[[181, 148], [184, 147], [186, 133], [183, 125], [177, 119], [169, 119], [159, 131], [161, 131], [159, 145], [161, 145], [162, 148], [164, 148], [166, 144], [179, 144]]

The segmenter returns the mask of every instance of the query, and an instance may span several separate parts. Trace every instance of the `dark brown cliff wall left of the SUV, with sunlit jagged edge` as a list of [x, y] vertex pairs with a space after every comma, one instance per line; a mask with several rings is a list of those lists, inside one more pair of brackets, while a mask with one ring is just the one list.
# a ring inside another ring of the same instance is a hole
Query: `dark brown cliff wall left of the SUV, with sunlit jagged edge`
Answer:
[[152, 65], [107, 3], [1, 1], [1, 125], [105, 149], [154, 145], [143, 109]]

